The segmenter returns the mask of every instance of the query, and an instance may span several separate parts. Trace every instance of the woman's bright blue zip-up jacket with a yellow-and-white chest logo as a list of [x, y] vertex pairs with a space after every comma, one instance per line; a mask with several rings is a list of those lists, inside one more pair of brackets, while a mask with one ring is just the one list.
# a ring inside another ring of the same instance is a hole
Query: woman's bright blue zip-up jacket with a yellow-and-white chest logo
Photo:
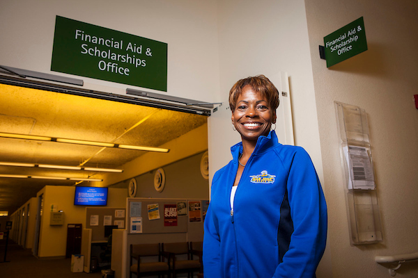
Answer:
[[230, 196], [242, 142], [215, 173], [204, 223], [205, 278], [315, 277], [325, 250], [327, 207], [311, 158], [302, 147], [260, 136]]

